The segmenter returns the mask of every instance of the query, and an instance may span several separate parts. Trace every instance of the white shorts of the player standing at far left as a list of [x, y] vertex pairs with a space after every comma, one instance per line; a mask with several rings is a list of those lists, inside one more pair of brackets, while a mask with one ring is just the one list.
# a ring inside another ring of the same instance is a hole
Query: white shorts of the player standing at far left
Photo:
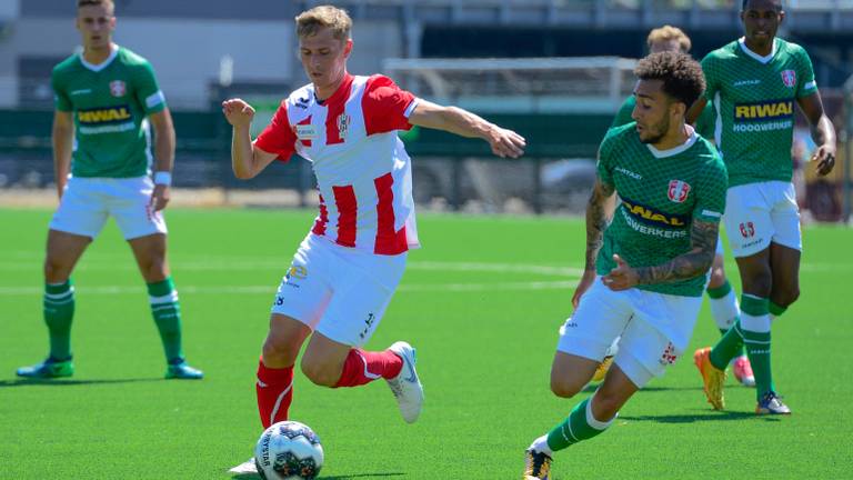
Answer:
[[149, 177], [71, 177], [50, 229], [96, 238], [113, 217], [126, 240], [165, 233], [162, 212], [150, 207], [153, 188]]

